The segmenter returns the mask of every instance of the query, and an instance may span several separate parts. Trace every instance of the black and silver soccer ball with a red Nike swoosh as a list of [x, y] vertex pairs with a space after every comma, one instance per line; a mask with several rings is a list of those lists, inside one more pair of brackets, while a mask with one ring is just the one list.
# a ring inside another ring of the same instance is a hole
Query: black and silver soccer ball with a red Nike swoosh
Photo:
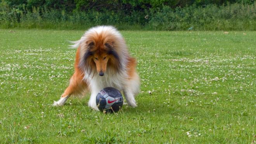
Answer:
[[123, 96], [114, 87], [105, 87], [97, 94], [96, 104], [100, 111], [118, 112], [123, 106]]

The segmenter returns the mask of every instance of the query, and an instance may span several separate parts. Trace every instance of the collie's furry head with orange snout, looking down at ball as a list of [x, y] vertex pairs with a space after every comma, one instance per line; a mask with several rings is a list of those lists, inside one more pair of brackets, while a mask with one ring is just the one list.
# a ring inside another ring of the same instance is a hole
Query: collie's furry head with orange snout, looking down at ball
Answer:
[[[114, 69], [116, 72], [122, 69], [122, 50], [119, 48], [119, 37], [111, 31], [92, 31], [85, 33], [86, 39], [81, 48], [81, 59], [79, 67], [85, 69], [88, 74], [97, 72], [104, 76], [107, 69]], [[122, 41], [122, 39], [121, 39]]]

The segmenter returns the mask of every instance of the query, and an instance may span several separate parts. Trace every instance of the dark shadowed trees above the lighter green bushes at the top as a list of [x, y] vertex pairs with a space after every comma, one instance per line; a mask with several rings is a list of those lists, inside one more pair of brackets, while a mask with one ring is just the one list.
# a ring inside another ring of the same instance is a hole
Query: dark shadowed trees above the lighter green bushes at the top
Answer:
[[98, 10], [140, 11], [145, 9], [161, 9], [189, 5], [206, 6], [209, 4], [227, 5], [227, 3], [254, 3], [254, 0], [5, 0], [10, 7], [32, 10], [33, 7], [65, 10], [66, 12]]

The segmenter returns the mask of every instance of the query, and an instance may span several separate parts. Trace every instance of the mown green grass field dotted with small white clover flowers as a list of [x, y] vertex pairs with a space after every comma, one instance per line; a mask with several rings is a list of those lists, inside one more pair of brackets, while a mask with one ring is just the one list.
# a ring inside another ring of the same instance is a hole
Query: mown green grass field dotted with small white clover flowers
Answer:
[[51, 106], [73, 74], [67, 40], [83, 32], [0, 30], [0, 143], [256, 141], [255, 31], [121, 31], [141, 93], [116, 114], [88, 97]]

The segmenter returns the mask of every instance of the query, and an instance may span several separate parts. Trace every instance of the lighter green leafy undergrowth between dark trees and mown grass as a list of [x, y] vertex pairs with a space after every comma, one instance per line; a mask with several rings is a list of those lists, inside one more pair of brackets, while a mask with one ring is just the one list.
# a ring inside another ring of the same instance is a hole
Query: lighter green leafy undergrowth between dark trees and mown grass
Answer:
[[[135, 4], [136, 5], [136, 4]], [[127, 6], [127, 5], [126, 5]], [[124, 6], [121, 6], [124, 7]], [[128, 9], [128, 8], [127, 8]], [[147, 30], [256, 30], [256, 2], [204, 7], [192, 5], [171, 8], [88, 11], [32, 7], [25, 4], [10, 8], [0, 3], [0, 28], [86, 29], [96, 25], [114, 25], [119, 29]]]

